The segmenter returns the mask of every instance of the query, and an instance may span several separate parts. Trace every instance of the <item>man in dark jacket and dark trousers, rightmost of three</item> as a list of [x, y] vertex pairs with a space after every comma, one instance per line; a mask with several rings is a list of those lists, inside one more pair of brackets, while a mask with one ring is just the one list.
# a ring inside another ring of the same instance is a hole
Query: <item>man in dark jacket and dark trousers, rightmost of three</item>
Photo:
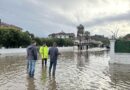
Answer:
[[52, 75], [55, 76], [57, 58], [59, 55], [59, 51], [55, 42], [53, 43], [53, 47], [49, 49], [49, 55], [50, 55], [49, 75], [51, 75], [51, 69], [53, 67]]

